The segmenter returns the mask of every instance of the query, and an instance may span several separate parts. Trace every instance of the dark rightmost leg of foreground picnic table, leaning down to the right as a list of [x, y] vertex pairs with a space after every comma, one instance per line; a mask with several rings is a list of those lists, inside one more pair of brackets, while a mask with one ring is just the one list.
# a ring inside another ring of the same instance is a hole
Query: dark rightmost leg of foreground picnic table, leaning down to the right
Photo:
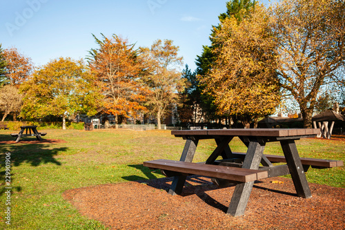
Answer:
[[290, 171], [291, 178], [293, 178], [297, 195], [302, 198], [311, 198], [311, 189], [309, 189], [295, 141], [285, 140], [281, 141], [280, 144], [282, 145], [286, 164], [288, 164], [288, 170]]

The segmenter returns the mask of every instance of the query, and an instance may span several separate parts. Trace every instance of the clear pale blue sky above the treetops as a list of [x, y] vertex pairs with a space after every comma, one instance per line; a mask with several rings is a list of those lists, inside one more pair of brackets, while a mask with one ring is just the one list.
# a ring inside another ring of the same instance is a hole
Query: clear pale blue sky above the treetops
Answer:
[[194, 70], [222, 12], [226, 1], [220, 0], [0, 0], [0, 44], [40, 66], [58, 57], [85, 58], [97, 48], [92, 34], [121, 35], [137, 47], [172, 39]]

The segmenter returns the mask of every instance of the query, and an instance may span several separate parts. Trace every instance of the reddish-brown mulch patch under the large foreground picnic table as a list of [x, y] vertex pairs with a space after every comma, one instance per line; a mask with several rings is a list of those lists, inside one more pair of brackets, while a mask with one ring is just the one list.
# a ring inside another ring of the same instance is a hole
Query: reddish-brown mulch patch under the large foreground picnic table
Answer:
[[171, 178], [102, 184], [65, 191], [82, 215], [110, 229], [345, 229], [345, 189], [309, 184], [299, 198], [291, 179], [256, 182], [244, 215], [226, 214], [235, 186], [218, 189], [193, 176], [181, 195], [166, 190]]

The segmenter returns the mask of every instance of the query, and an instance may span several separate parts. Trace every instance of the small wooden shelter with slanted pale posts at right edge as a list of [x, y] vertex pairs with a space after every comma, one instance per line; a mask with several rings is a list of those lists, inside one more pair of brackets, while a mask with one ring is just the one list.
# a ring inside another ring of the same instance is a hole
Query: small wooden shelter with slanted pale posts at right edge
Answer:
[[[336, 121], [345, 122], [345, 116], [337, 110], [328, 110], [319, 115], [315, 115], [312, 121], [314, 128], [319, 128], [321, 130], [321, 133], [318, 134], [317, 137], [331, 139], [334, 123]], [[329, 124], [330, 126], [328, 126]]]

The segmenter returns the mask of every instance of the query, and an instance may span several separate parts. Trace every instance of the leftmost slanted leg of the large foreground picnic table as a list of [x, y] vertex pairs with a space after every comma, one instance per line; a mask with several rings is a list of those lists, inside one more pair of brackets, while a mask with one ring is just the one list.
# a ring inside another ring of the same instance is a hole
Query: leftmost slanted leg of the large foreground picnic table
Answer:
[[[180, 161], [192, 162], [198, 142], [199, 140], [186, 140], [186, 144], [184, 145], [184, 151], [182, 152]], [[184, 183], [186, 182], [186, 178], [186, 175], [176, 175], [172, 180], [172, 184], [170, 185], [168, 193], [171, 195], [181, 194], [182, 189], [184, 188]]]

